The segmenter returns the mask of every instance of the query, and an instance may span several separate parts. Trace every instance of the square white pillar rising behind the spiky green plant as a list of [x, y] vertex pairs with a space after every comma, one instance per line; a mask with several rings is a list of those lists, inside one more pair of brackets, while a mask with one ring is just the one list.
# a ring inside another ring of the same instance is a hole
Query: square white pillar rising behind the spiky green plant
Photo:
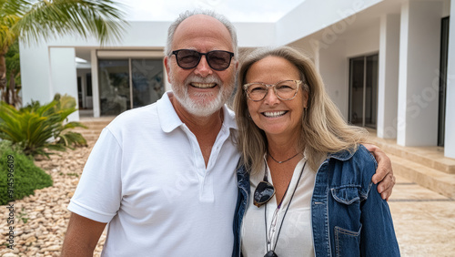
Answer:
[[[55, 94], [64, 96], [65, 94], [77, 98], [77, 76], [76, 76], [76, 52], [74, 47], [51, 47], [50, 57], [50, 77], [53, 88], [53, 98]], [[70, 114], [68, 119], [71, 121], [79, 120], [79, 111]]]

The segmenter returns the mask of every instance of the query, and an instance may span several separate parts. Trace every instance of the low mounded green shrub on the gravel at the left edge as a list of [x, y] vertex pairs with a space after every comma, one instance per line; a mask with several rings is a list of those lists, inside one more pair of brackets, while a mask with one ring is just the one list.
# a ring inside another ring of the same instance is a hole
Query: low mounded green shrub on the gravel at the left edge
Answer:
[[[14, 173], [8, 176], [10, 169], [13, 169]], [[0, 141], [0, 205], [11, 200], [8, 190], [14, 192], [15, 200], [20, 200], [25, 196], [35, 195], [35, 190], [50, 187], [52, 184], [51, 176], [36, 167], [33, 159], [15, 149], [11, 142]]]

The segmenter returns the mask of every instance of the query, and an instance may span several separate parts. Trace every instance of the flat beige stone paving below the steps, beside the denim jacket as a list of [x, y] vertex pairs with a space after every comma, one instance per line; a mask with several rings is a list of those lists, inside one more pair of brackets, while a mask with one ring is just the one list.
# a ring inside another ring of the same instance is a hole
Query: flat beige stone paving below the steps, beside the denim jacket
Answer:
[[397, 177], [389, 207], [402, 256], [455, 256], [455, 200]]

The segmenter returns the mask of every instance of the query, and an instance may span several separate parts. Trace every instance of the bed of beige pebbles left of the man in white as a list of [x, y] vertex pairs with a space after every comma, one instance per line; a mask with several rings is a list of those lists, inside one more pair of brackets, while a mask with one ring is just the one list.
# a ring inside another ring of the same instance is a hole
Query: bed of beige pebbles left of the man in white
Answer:
[[[88, 147], [68, 149], [52, 155], [51, 159], [37, 159], [36, 166], [52, 176], [54, 185], [35, 190], [35, 195], [16, 200], [15, 223], [8, 224], [7, 205], [1, 206], [4, 213], [0, 221], [0, 256], [60, 256], [65, 239], [70, 211], [66, 209], [73, 196], [86, 159], [95, 142]], [[9, 226], [14, 226], [15, 249], [6, 248]], [[96, 246], [94, 256], [99, 256], [106, 239], [106, 230]]]

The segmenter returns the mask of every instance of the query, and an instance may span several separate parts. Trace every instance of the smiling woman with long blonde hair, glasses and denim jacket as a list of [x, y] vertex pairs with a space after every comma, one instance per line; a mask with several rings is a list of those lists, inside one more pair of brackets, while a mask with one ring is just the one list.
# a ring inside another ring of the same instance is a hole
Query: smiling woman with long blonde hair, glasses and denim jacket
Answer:
[[376, 160], [360, 144], [367, 133], [341, 118], [312, 61], [287, 46], [258, 49], [238, 83], [234, 256], [399, 255], [371, 182]]

